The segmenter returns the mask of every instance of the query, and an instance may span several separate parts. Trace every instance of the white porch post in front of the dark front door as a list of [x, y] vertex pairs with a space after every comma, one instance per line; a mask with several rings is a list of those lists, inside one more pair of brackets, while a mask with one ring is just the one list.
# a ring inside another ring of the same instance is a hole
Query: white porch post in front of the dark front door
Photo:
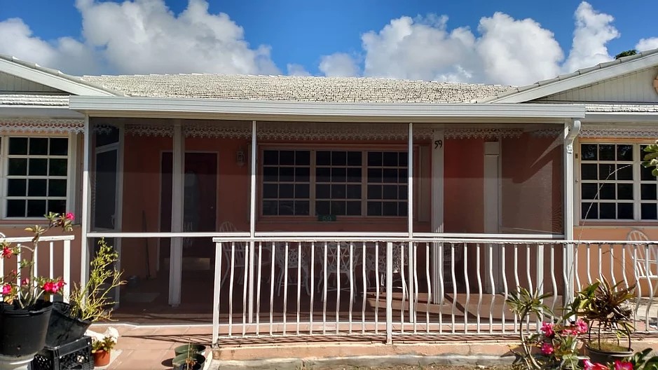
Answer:
[[[174, 121], [172, 153], [172, 233], [183, 231], [183, 189], [185, 143], [181, 121]], [[169, 304], [181, 303], [181, 280], [183, 278], [183, 239], [172, 238], [169, 256]]]

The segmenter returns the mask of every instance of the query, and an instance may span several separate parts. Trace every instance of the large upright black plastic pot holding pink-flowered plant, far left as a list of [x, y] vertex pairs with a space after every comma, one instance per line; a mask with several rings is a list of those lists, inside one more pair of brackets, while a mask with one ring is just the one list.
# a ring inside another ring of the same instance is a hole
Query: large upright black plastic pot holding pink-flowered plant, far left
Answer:
[[46, 344], [53, 303], [37, 301], [31, 309], [0, 303], [0, 355], [34, 355]]

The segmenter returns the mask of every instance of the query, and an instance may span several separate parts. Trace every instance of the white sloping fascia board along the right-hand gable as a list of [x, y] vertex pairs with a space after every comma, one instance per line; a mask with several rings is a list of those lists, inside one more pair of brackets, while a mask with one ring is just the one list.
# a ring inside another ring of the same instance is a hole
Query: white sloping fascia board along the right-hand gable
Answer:
[[583, 74], [577, 76], [571, 76], [571, 74], [565, 76], [563, 80], [554, 81], [542, 85], [545, 83], [543, 81], [539, 82], [539, 85], [535, 88], [529, 88], [528, 90], [519, 91], [518, 93], [511, 93], [509, 95], [498, 97], [492, 100], [488, 100], [488, 103], [523, 103], [530, 102], [531, 100], [539, 99], [541, 97], [546, 97], [549, 95], [554, 95], [557, 93], [562, 93], [566, 90], [571, 90], [573, 88], [580, 88], [582, 86], [591, 85], [600, 81], [605, 81], [610, 78], [615, 78], [617, 76], [622, 76], [624, 74], [629, 74], [633, 71], [640, 71], [642, 69], [647, 69], [655, 67], [658, 63], [658, 54], [653, 53], [647, 55], [646, 57], [640, 57], [636, 60], [630, 62], [619, 62], [619, 64], [603, 67], [601, 69], [596, 69], [594, 71], [587, 71]]

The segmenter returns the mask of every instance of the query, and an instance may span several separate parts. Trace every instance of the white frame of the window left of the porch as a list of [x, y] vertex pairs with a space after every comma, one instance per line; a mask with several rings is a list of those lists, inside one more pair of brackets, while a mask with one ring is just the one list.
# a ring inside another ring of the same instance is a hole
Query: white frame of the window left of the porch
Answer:
[[[0, 219], [3, 221], [43, 221], [41, 217], [7, 217], [7, 191], [8, 191], [8, 152], [9, 152], [9, 138], [10, 137], [29, 137], [29, 138], [59, 138], [68, 139], [68, 154], [67, 154], [67, 191], [66, 191], [66, 210], [67, 212], [74, 210], [74, 194], [76, 189], [76, 151], [77, 151], [77, 137], [76, 134], [71, 133], [24, 133], [15, 132], [0, 135]], [[29, 154], [27, 155], [29, 158]], [[47, 158], [48, 156], [46, 156]], [[28, 175], [29, 177], [29, 175]], [[46, 175], [48, 177], [48, 175]], [[47, 197], [45, 197], [47, 198]], [[63, 198], [63, 197], [62, 197]]]

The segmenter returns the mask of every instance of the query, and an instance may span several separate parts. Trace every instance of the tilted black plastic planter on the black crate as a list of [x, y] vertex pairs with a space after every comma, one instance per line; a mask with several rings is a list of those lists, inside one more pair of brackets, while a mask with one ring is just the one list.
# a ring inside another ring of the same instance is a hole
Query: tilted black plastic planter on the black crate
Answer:
[[53, 303], [53, 313], [50, 314], [46, 345], [50, 348], [59, 347], [77, 341], [85, 335], [91, 321], [80, 320], [70, 315], [71, 305], [64, 302]]

